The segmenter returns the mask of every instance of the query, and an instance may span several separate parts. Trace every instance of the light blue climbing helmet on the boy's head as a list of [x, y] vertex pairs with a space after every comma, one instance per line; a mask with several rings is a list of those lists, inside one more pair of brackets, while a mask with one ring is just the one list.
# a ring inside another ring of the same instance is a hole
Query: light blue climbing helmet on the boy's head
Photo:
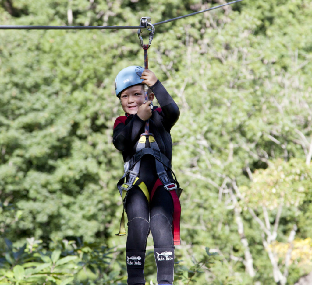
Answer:
[[119, 71], [115, 79], [116, 96], [120, 97], [120, 93], [130, 86], [141, 84], [143, 79], [140, 77], [143, 71], [144, 68], [137, 65], [131, 65]]

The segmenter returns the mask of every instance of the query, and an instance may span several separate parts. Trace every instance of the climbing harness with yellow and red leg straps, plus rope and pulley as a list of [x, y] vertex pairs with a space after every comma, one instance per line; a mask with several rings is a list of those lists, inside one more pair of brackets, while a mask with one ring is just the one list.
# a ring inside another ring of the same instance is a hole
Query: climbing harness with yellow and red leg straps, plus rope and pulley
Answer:
[[[144, 45], [143, 39], [141, 37], [142, 29], [139, 28], [138, 36], [141, 42], [141, 46], [144, 49], [144, 68], [148, 69], [148, 55], [147, 50], [149, 49], [151, 42], [154, 37], [155, 28], [150, 23], [150, 17], [142, 17], [141, 18], [141, 26], [145, 25], [146, 28], [150, 31], [149, 33], [149, 44]], [[150, 26], [150, 28], [148, 28]], [[148, 101], [148, 86], [145, 84], [145, 101]], [[152, 106], [151, 106], [152, 108]], [[149, 147], [146, 147], [146, 141], [149, 140]], [[147, 191], [146, 185], [143, 181], [138, 178], [139, 171], [140, 171], [140, 164], [141, 159], [144, 155], [151, 154], [155, 158], [155, 166], [158, 179], [152, 189], [151, 197], [149, 197], [149, 192]], [[169, 191], [171, 197], [173, 199], [173, 243], [174, 245], [180, 245], [180, 216], [181, 216], [181, 204], [179, 201], [178, 195], [181, 194], [181, 188], [179, 187], [178, 181], [176, 176], [174, 176], [174, 182], [171, 182], [170, 178], [168, 177], [167, 171], [171, 170], [171, 162], [170, 160], [160, 152], [158, 144], [154, 139], [154, 135], [149, 132], [149, 120], [145, 122], [144, 133], [141, 134], [139, 142], [136, 147], [136, 152], [134, 156], [129, 159], [124, 164], [124, 175], [119, 180], [117, 187], [119, 189], [120, 195], [122, 197], [123, 202], [125, 203], [125, 199], [127, 196], [127, 192], [132, 188], [133, 185], [139, 186], [139, 188], [143, 191], [145, 197], [147, 198], [148, 202], [153, 198], [153, 195], [156, 189], [163, 185], [163, 187]], [[128, 177], [127, 181], [126, 178]], [[124, 210], [120, 221], [119, 233], [116, 235], [125, 235], [125, 227], [124, 227]]]

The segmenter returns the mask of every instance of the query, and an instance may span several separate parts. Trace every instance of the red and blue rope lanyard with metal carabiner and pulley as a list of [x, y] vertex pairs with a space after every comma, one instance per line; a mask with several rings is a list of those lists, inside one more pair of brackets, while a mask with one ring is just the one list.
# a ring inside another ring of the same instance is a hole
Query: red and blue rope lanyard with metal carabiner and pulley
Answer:
[[[139, 39], [140, 39], [140, 43], [141, 43], [141, 46], [142, 48], [144, 49], [144, 68], [145, 69], [149, 69], [149, 61], [148, 61], [148, 55], [147, 55], [147, 50], [149, 49], [151, 43], [152, 43], [152, 40], [154, 38], [154, 34], [155, 34], [155, 28], [153, 26], [153, 24], [151, 23], [151, 18], [150, 17], [142, 17], [141, 18], [141, 22], [140, 22], [140, 26], [145, 26], [147, 28], [148, 31], [150, 31], [149, 33], [149, 43], [148, 45], [144, 45], [143, 44], [143, 39], [142, 39], [142, 29], [139, 28], [138, 30], [138, 36], [139, 36]], [[148, 27], [150, 26], [150, 28]], [[144, 95], [145, 95], [145, 101], [149, 101], [149, 96], [148, 96], [148, 89], [149, 87], [145, 84], [144, 85]], [[151, 103], [151, 109], [153, 109], [153, 103]], [[153, 135], [152, 133], [149, 132], [149, 120], [146, 121], [145, 123], [145, 129], [144, 129], [144, 133], [141, 134], [141, 136], [149, 136], [149, 135]]]

